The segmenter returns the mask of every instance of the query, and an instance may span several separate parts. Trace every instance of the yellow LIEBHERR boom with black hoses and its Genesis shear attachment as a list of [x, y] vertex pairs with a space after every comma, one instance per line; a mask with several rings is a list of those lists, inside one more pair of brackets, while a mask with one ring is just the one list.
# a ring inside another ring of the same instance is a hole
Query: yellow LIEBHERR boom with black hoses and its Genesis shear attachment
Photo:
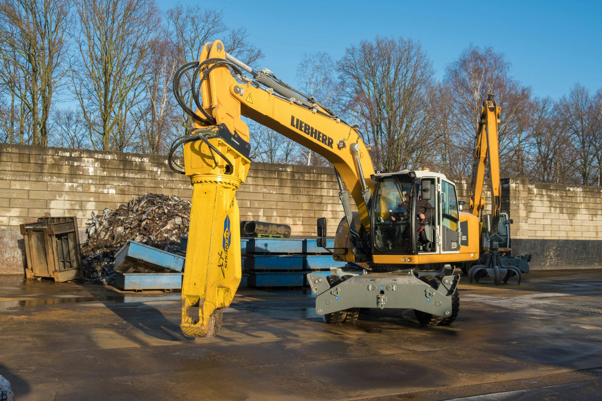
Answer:
[[226, 54], [221, 41], [205, 44], [199, 63], [189, 64], [188, 69], [201, 78], [196, 88], [199, 107], [193, 113], [188, 109], [194, 121], [191, 135], [172, 145], [173, 152], [184, 144], [182, 172], [193, 185], [181, 328], [186, 335], [212, 337], [221, 326], [222, 308], [231, 304], [241, 278], [236, 191], [250, 166], [249, 128], [241, 117], [326, 158], [349, 188], [367, 230], [374, 169], [357, 127], [344, 123], [267, 70], [255, 71]]

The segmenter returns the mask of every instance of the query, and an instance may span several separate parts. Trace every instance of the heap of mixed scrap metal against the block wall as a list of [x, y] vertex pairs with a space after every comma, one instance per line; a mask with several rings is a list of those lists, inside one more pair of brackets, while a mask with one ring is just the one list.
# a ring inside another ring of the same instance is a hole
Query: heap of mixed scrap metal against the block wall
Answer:
[[188, 234], [190, 225], [190, 201], [149, 193], [117, 210], [105, 209], [99, 216], [92, 213], [87, 225], [88, 240], [81, 246], [84, 280], [114, 284], [115, 254], [128, 240], [179, 251], [180, 236]]

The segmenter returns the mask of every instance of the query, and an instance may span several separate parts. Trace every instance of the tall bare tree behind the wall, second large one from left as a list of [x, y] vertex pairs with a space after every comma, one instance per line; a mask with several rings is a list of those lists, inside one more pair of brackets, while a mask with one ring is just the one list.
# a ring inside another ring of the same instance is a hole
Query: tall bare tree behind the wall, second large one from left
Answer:
[[156, 40], [159, 10], [152, 0], [76, 0], [75, 6], [74, 94], [92, 146], [123, 150], [128, 118], [144, 98], [141, 64]]

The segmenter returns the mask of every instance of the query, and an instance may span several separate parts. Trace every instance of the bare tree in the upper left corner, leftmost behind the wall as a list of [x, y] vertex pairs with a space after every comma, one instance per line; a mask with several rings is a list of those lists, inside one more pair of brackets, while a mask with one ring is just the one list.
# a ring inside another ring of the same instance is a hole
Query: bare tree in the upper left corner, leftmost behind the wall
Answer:
[[[70, 2], [66, 0], [0, 0], [2, 59], [9, 66], [3, 69], [3, 76], [5, 82], [6, 78], [11, 81], [11, 115], [18, 97], [20, 111], [26, 108], [31, 115], [34, 145], [48, 143], [48, 117], [52, 96], [66, 73], [63, 61], [70, 26]], [[6, 72], [10, 72], [8, 76]], [[25, 82], [17, 85], [16, 79]], [[10, 134], [14, 141], [13, 123], [14, 119]]]

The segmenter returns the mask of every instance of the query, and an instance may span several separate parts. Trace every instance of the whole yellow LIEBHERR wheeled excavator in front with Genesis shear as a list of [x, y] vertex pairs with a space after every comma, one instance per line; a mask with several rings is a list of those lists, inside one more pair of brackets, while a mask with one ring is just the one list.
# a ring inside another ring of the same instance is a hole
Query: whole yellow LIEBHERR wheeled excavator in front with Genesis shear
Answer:
[[[191, 88], [196, 111], [179, 91], [179, 80], [188, 70], [200, 78], [198, 86], [193, 79]], [[185, 335], [215, 335], [222, 325], [222, 308], [231, 304], [240, 283], [235, 194], [250, 165], [249, 129], [241, 116], [324, 156], [335, 168], [345, 217], [330, 251], [348, 262], [347, 267], [329, 277], [308, 274], [317, 294], [316, 311], [326, 322], [353, 323], [359, 308], [385, 305], [414, 309], [423, 325], [456, 319], [459, 275], [453, 274], [452, 264], [479, 260], [480, 224], [478, 213], [461, 212], [456, 186], [444, 174], [375, 172], [358, 126], [345, 123], [269, 70], [253, 70], [227, 54], [219, 40], [205, 44], [200, 61], [182, 66], [173, 85], [179, 105], [194, 121], [190, 135], [173, 142], [169, 157], [170, 166], [193, 184], [182, 285]], [[183, 167], [173, 159], [181, 145]], [[358, 212], [352, 212], [349, 195]], [[474, 205], [473, 210], [482, 206], [480, 201]], [[318, 237], [318, 245], [325, 247], [324, 218], [318, 219]], [[490, 248], [494, 246], [492, 241]]]

